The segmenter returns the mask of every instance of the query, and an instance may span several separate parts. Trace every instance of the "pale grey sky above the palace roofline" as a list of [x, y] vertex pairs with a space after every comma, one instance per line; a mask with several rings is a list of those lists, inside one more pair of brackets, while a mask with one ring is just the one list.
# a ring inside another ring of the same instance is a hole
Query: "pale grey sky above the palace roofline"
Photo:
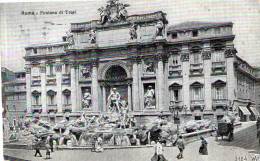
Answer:
[[[97, 9], [107, 0], [65, 2], [19, 2], [0, 4], [1, 65], [13, 71], [24, 69], [24, 47], [61, 41], [70, 23], [99, 19]], [[167, 13], [169, 25], [185, 21], [233, 22], [238, 56], [260, 66], [260, 0], [120, 0], [130, 4], [128, 14], [155, 11]], [[69, 10], [74, 14], [65, 14]], [[50, 11], [63, 14], [23, 15]]]

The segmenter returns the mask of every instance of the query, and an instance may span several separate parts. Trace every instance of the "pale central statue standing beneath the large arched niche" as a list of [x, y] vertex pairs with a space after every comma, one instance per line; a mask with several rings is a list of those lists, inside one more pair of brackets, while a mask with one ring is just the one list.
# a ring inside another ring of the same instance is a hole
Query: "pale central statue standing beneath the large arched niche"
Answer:
[[120, 100], [121, 96], [116, 88], [112, 88], [108, 96], [108, 105], [111, 112], [120, 112]]

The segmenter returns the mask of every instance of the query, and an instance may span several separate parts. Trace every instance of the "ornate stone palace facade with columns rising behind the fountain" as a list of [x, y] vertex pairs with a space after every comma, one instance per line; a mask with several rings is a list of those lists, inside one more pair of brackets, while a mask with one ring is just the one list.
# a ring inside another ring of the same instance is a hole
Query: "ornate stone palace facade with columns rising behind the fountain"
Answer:
[[169, 105], [193, 119], [255, 111], [255, 70], [236, 55], [231, 22], [169, 26], [161, 11], [127, 7], [109, 1], [63, 42], [26, 47], [28, 114], [57, 121], [127, 106], [145, 121], [170, 115]]

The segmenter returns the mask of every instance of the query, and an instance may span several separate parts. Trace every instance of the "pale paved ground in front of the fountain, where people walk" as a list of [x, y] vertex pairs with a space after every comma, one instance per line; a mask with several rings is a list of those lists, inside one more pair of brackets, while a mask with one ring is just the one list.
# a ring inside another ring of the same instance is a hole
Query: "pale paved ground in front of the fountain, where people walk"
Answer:
[[[252, 158], [255, 157], [256, 153], [260, 154], [259, 145], [256, 146], [257, 144], [255, 144], [256, 137], [253, 137], [256, 135], [253, 134], [254, 128], [255, 122], [243, 123], [241, 127], [235, 130], [235, 140], [233, 142], [215, 141], [214, 137], [206, 138], [209, 143], [208, 156], [198, 154], [200, 141], [190, 143], [186, 145], [184, 158], [181, 161], [240, 161], [238, 159], [242, 158], [246, 158], [247, 161], [253, 161]], [[4, 153], [27, 160], [45, 160], [44, 158], [33, 157], [34, 151], [31, 150], [5, 149]], [[42, 154], [45, 157], [45, 151], [42, 151]], [[150, 161], [153, 154], [154, 149], [152, 147], [108, 149], [103, 153], [90, 152], [90, 150], [66, 150], [52, 153], [51, 161]], [[164, 148], [164, 155], [169, 161], [177, 160], [177, 154], [178, 149], [176, 147]], [[258, 157], [258, 160], [254, 161], [260, 161], [260, 156]]]

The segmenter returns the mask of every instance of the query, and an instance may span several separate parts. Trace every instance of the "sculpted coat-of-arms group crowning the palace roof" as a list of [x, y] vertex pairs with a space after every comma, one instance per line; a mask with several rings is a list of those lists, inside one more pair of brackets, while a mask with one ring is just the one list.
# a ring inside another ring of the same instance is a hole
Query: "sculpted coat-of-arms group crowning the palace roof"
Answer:
[[108, 0], [106, 7], [100, 7], [98, 9], [100, 13], [100, 23], [104, 25], [107, 22], [125, 21], [128, 15], [126, 7], [129, 7], [129, 4], [120, 3], [119, 0]]

